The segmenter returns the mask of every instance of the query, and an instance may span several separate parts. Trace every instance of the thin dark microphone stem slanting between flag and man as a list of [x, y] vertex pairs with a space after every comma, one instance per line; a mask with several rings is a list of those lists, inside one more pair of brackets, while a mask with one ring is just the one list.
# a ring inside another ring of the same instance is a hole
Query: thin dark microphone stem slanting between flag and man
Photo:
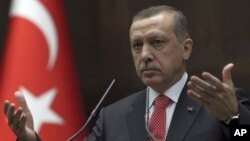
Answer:
[[91, 112], [91, 114], [90, 114], [88, 120], [85, 122], [85, 124], [73, 136], [71, 136], [67, 141], [73, 141], [86, 128], [86, 126], [89, 124], [89, 122], [95, 116], [96, 111], [100, 107], [102, 101], [104, 100], [104, 98], [106, 97], [106, 95], [108, 94], [108, 92], [110, 91], [110, 89], [111, 89], [111, 87], [113, 86], [114, 83], [115, 83], [115, 79], [113, 79], [113, 81], [110, 83], [108, 89], [105, 91], [105, 93], [103, 94], [102, 98], [100, 99], [100, 101], [98, 102], [98, 104], [96, 105], [96, 107], [94, 108], [94, 110]]

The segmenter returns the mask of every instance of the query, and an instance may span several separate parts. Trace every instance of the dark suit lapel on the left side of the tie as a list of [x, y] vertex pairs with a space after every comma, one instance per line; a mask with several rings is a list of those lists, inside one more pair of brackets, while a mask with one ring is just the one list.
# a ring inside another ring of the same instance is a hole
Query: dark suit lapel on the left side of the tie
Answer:
[[127, 123], [131, 141], [146, 141], [145, 130], [145, 95], [146, 91], [141, 91], [138, 97], [131, 104], [132, 110], [127, 115]]

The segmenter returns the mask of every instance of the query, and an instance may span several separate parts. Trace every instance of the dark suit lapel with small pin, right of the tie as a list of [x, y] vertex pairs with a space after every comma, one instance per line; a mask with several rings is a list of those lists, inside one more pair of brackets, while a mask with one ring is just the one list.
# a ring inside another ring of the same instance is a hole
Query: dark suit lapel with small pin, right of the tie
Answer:
[[183, 141], [197, 117], [201, 106], [187, 94], [187, 85], [182, 90], [169, 127], [167, 141]]

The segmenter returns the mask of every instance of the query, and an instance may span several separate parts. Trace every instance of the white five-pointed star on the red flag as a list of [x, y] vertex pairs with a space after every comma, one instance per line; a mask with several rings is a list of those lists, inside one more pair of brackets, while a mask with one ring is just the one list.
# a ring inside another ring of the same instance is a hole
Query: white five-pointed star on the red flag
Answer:
[[24, 94], [24, 97], [33, 115], [34, 128], [36, 132], [39, 133], [39, 130], [44, 123], [63, 124], [63, 119], [50, 107], [56, 96], [56, 88], [51, 88], [40, 96], [35, 96], [23, 86], [19, 88], [19, 91]]

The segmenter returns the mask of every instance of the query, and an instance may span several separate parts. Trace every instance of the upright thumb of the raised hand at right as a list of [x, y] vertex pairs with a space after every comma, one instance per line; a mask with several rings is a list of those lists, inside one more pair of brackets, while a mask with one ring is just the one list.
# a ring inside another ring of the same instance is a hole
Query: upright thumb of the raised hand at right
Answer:
[[227, 64], [222, 71], [223, 82], [229, 86], [233, 86], [232, 80], [232, 69], [234, 67], [233, 63]]

